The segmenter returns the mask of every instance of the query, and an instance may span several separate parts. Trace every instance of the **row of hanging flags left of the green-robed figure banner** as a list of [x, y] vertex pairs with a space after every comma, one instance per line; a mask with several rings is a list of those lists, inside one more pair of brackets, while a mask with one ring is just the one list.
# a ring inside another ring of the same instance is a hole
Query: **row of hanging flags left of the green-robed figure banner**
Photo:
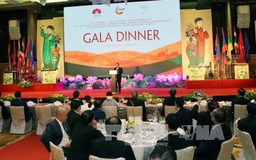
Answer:
[[13, 67], [16, 70], [23, 69], [33, 69], [34, 65], [34, 55], [33, 55], [33, 40], [29, 40], [26, 43], [25, 48], [25, 38], [21, 39], [21, 45], [20, 45], [20, 39], [18, 40], [17, 44], [17, 51], [16, 51], [16, 44], [15, 40], [13, 40], [13, 45], [11, 46], [11, 41], [8, 44], [8, 51], [7, 51], [7, 57], [8, 57], [8, 68], [9, 71], [11, 71], [11, 59], [13, 63]]

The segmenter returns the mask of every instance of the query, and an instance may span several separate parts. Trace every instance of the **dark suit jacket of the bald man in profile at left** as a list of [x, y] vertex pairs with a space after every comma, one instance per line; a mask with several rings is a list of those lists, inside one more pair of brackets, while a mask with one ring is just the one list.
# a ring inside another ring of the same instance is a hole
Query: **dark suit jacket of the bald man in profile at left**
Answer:
[[[67, 134], [69, 135], [71, 139], [70, 134], [70, 128], [68, 126], [68, 123], [63, 123], [67, 129]], [[60, 128], [60, 125], [56, 119], [49, 122], [41, 136], [41, 142], [44, 144], [45, 148], [51, 152], [50, 148], [50, 142], [52, 142], [54, 145], [58, 146], [62, 140], [62, 131]]]

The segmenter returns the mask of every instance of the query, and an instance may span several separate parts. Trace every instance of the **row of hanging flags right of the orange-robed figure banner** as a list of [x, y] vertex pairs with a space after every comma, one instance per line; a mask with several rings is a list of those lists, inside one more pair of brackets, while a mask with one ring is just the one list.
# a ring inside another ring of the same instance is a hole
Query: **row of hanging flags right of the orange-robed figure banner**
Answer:
[[[248, 63], [249, 60], [249, 50], [251, 49], [249, 39], [246, 33], [246, 30], [244, 31], [244, 40], [243, 43], [243, 35], [241, 32], [241, 29], [239, 29], [239, 41], [237, 43], [237, 36], [234, 28], [234, 48], [232, 43], [232, 37], [230, 36], [230, 32], [227, 30], [227, 43], [226, 43], [226, 37], [224, 30], [222, 28], [222, 48], [220, 48], [220, 43], [218, 39], [218, 29], [216, 29], [216, 36], [215, 36], [215, 46], [214, 51], [216, 53], [216, 63], [217, 64], [231, 64], [232, 56], [231, 52], [235, 50], [235, 60], [236, 62], [240, 63]], [[244, 45], [245, 44], [245, 45]]]

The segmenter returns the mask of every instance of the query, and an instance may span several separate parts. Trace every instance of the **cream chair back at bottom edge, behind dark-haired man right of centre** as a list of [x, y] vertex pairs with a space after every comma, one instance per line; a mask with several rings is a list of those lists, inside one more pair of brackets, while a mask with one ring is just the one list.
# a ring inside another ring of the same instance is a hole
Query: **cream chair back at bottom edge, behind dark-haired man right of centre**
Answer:
[[177, 160], [193, 160], [195, 148], [189, 146], [183, 149], [175, 150], [177, 154]]

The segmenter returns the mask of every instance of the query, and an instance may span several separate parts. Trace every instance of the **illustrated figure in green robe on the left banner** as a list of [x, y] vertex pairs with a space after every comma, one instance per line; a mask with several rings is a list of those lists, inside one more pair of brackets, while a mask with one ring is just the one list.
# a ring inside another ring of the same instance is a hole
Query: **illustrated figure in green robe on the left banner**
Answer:
[[52, 57], [51, 47], [55, 44], [54, 27], [52, 25], [47, 26], [47, 34], [43, 31], [43, 26], [40, 27], [41, 36], [43, 37], [43, 69], [55, 69]]

